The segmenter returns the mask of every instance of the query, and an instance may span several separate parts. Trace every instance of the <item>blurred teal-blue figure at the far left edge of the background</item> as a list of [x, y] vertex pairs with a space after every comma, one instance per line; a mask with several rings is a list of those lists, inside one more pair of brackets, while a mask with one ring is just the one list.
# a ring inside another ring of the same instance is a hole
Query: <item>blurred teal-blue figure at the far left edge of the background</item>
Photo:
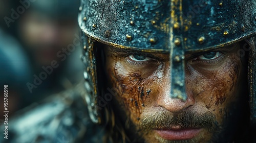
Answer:
[[[19, 42], [10, 34], [14, 29], [8, 29], [4, 17], [11, 14], [11, 1], [0, 0], [0, 87], [8, 85], [9, 115], [18, 110], [22, 97], [26, 96], [26, 82], [29, 79], [31, 68], [28, 57]], [[4, 98], [4, 97], [3, 97]], [[4, 105], [4, 100], [0, 100]], [[4, 111], [1, 106], [0, 112]], [[4, 118], [1, 116], [0, 119]]]

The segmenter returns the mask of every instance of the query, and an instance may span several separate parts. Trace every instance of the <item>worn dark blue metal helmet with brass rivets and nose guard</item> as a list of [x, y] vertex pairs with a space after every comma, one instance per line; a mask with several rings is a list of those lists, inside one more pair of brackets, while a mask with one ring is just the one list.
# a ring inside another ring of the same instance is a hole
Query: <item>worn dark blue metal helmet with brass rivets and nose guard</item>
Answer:
[[95, 42], [170, 54], [171, 97], [186, 100], [184, 53], [248, 41], [251, 121], [256, 121], [256, 1], [83, 0], [78, 16], [90, 117], [100, 123]]

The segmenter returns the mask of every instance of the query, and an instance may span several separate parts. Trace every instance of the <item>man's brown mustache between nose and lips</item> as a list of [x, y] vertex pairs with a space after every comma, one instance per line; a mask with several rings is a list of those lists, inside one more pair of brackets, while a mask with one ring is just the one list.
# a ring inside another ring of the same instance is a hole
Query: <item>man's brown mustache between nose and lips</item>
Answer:
[[180, 126], [181, 128], [207, 127], [214, 129], [215, 123], [216, 116], [210, 112], [196, 113], [182, 111], [171, 113], [165, 110], [141, 118], [139, 124], [141, 130], [149, 131], [152, 129], [170, 129], [173, 126]]

